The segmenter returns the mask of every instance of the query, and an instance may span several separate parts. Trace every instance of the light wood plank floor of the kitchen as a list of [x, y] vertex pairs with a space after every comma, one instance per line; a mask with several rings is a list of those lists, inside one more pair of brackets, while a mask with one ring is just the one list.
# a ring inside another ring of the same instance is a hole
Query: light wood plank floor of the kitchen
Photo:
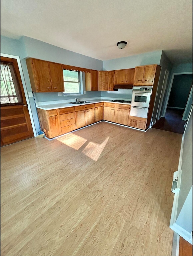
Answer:
[[101, 122], [1, 148], [1, 255], [171, 255], [181, 140]]

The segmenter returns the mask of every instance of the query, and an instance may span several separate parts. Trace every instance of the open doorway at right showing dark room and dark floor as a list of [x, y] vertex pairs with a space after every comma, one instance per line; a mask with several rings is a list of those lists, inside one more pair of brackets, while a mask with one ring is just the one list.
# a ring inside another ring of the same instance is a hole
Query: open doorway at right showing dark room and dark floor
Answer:
[[162, 117], [153, 128], [183, 134], [187, 118], [186, 109], [190, 110], [192, 103], [192, 73], [173, 74], [167, 105]]

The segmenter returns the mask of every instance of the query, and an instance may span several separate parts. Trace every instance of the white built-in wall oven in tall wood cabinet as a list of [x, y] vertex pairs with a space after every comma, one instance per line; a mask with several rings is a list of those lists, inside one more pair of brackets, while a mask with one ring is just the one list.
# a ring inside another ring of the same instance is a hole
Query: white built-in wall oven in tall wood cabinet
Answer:
[[152, 86], [133, 86], [131, 116], [147, 118], [151, 92]]

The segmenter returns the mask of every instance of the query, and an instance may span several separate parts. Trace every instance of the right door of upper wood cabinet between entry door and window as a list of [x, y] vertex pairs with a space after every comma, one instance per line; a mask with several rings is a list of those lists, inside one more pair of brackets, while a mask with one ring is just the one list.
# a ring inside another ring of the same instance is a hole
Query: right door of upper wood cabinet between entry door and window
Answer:
[[52, 81], [52, 91], [64, 91], [62, 64], [49, 62], [49, 70]]

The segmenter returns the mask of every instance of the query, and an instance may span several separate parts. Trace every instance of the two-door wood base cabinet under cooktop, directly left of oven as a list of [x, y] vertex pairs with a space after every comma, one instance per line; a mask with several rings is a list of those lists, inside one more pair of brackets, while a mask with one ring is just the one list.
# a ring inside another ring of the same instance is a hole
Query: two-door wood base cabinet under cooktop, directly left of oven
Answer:
[[115, 104], [114, 122], [128, 125], [130, 105]]

